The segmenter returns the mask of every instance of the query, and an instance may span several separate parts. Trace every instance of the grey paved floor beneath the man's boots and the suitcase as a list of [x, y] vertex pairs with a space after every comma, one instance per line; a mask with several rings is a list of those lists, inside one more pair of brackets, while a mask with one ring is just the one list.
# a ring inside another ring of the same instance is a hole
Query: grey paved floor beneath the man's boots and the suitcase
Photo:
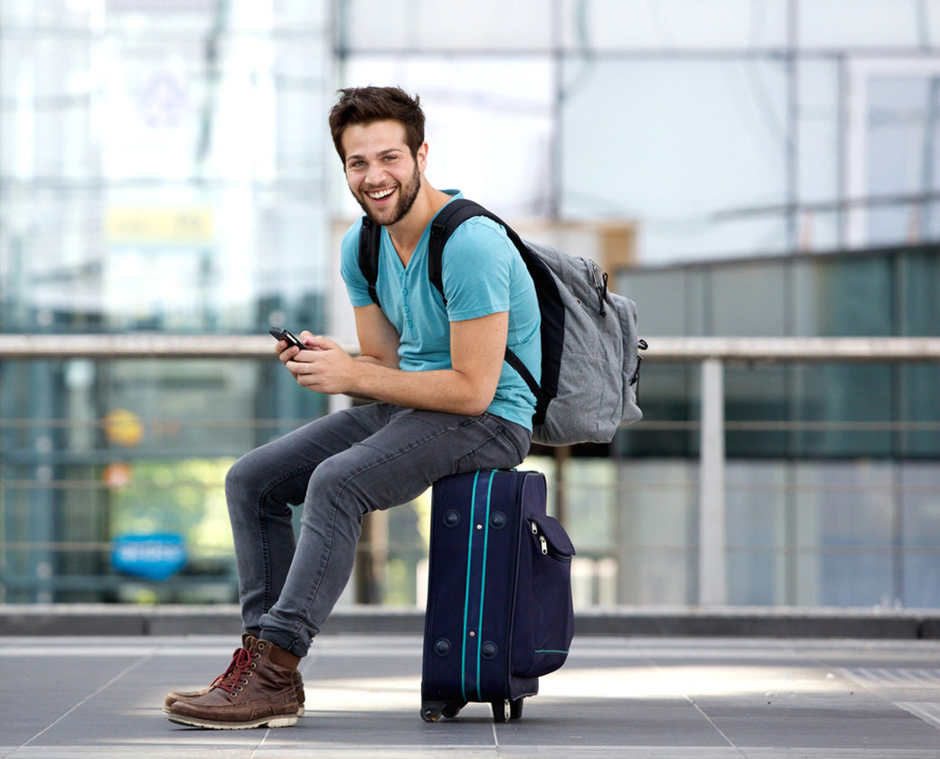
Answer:
[[289, 728], [166, 720], [235, 636], [0, 637], [2, 759], [937, 759], [940, 642], [584, 637], [522, 720], [425, 723], [417, 635], [322, 636]]

